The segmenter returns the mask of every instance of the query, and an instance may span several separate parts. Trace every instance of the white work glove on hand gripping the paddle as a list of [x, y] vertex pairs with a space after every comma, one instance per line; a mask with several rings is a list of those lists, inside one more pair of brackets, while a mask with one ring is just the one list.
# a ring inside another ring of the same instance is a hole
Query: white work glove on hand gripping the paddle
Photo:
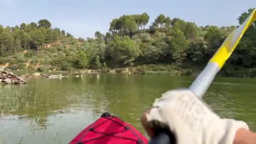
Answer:
[[177, 144], [232, 144], [239, 128], [249, 129], [243, 121], [221, 119], [189, 90], [164, 93], [146, 117], [151, 126], [168, 127]]

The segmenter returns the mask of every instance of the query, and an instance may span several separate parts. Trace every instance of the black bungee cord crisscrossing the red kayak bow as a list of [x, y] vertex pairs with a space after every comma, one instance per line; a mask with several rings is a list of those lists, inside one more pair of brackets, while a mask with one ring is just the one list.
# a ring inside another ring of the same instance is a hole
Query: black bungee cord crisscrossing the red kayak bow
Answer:
[[[115, 120], [113, 120], [113, 118], [115, 118], [115, 116], [112, 116], [110, 115], [108, 112], [104, 112], [102, 115], [101, 115], [101, 118], [105, 118], [106, 120], [104, 120], [102, 123], [98, 124], [97, 126], [95, 126], [95, 124], [97, 123], [98, 120], [96, 120], [90, 128], [88, 128], [88, 130], [83, 134], [83, 136], [80, 138], [80, 140], [76, 143], [76, 144], [85, 144], [86, 142], [88, 141], [93, 141], [93, 140], [96, 140], [96, 139], [101, 139], [105, 136], [112, 136], [112, 137], [115, 137], [115, 138], [120, 138], [120, 139], [129, 139], [129, 140], [132, 140], [132, 141], [136, 141], [136, 144], [145, 144], [144, 141], [142, 141], [142, 139], [133, 131], [132, 128], [126, 126], [126, 125], [123, 125], [122, 123], [120, 122], [117, 122]], [[102, 125], [103, 123], [107, 122], [108, 120], [111, 120], [115, 123], [117, 123], [118, 125], [121, 125], [123, 126], [124, 130], [123, 131], [118, 131], [118, 132], [114, 132], [114, 133], [104, 133], [104, 132], [100, 132], [100, 131], [95, 131], [96, 128], [98, 128], [100, 125]], [[128, 131], [128, 130], [131, 130], [132, 133], [138, 138], [137, 139], [132, 139], [132, 138], [127, 138], [127, 137], [123, 137], [123, 136], [117, 136], [116, 134], [117, 133], [123, 133], [125, 131]], [[94, 133], [101, 133], [101, 134], [104, 134], [103, 136], [99, 136], [99, 137], [96, 137], [96, 138], [91, 138], [91, 139], [88, 139], [86, 141], [82, 141], [83, 138], [86, 136], [86, 134], [89, 132], [89, 131], [92, 131]]]

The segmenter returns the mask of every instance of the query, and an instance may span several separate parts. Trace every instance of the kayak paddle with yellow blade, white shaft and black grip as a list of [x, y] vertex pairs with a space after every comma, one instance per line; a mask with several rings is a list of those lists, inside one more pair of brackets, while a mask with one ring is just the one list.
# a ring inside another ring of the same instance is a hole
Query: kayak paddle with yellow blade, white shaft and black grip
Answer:
[[[256, 10], [243, 22], [243, 24], [235, 29], [222, 43], [219, 50], [210, 59], [206, 67], [197, 76], [195, 81], [189, 87], [189, 90], [202, 99], [203, 95], [211, 85], [216, 74], [224, 66], [227, 59], [229, 59], [232, 52], [235, 50], [237, 44], [242, 38], [244, 32], [251, 26], [253, 21], [256, 21]], [[175, 144], [175, 137], [168, 130], [157, 129], [155, 136], [149, 141], [149, 144]]]

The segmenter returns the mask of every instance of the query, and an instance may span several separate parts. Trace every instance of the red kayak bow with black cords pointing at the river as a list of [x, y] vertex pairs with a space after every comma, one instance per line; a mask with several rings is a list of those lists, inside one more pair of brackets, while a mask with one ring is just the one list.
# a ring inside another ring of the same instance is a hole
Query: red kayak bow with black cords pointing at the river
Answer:
[[129, 123], [105, 112], [69, 144], [148, 144], [148, 140]]

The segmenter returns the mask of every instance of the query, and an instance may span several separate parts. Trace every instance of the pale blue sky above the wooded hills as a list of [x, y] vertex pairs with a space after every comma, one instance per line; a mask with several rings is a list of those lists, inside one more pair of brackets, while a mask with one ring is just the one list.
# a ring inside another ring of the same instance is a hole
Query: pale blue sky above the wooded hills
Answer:
[[238, 25], [237, 17], [254, 7], [255, 0], [0, 0], [0, 24], [13, 27], [48, 19], [52, 27], [86, 38], [97, 30], [107, 32], [110, 21], [123, 14], [146, 12], [149, 24], [163, 13], [198, 26], [221, 27]]

